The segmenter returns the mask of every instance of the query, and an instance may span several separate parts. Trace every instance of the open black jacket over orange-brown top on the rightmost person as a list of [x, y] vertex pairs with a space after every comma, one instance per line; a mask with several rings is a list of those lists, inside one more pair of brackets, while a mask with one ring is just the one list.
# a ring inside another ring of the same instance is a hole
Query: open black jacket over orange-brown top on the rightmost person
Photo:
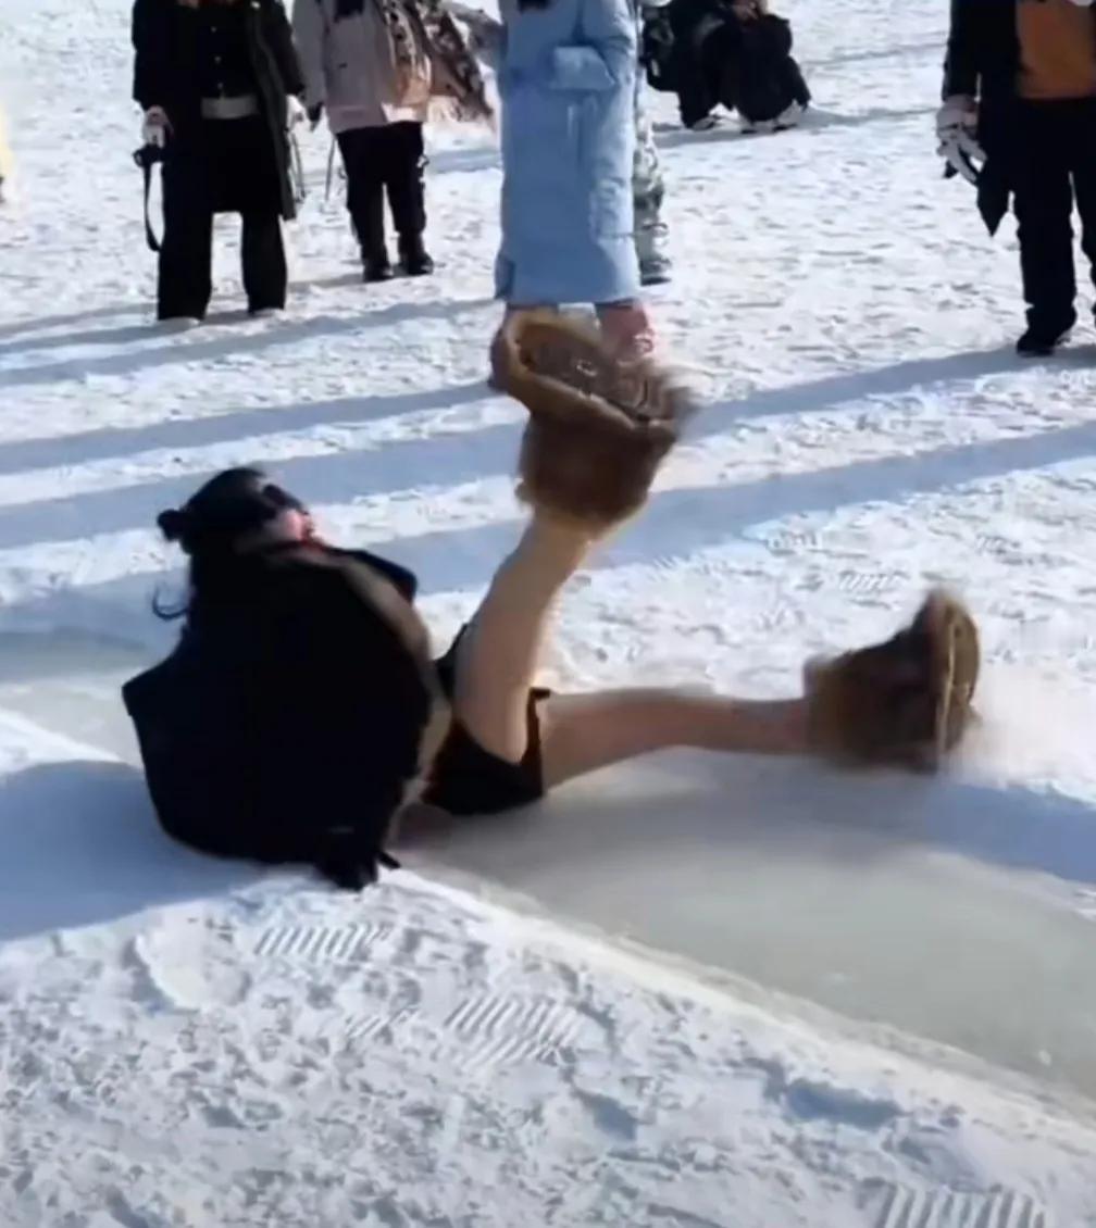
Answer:
[[[951, 0], [944, 61], [944, 98], [978, 99], [978, 140], [987, 161], [978, 183], [978, 209], [995, 233], [1012, 190], [1012, 134], [1020, 75], [1017, 0]], [[1096, 22], [1096, 6], [1090, 9]]]

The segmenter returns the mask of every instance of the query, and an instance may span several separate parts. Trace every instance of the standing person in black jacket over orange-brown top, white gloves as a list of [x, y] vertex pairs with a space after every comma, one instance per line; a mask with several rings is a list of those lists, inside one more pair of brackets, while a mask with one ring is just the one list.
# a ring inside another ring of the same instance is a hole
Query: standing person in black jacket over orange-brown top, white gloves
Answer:
[[[940, 152], [977, 178], [990, 233], [1012, 199], [1027, 303], [1016, 350], [1052, 354], [1076, 323], [1074, 201], [1096, 260], [1092, 0], [952, 0], [942, 98]], [[983, 154], [976, 176], [971, 158]]]

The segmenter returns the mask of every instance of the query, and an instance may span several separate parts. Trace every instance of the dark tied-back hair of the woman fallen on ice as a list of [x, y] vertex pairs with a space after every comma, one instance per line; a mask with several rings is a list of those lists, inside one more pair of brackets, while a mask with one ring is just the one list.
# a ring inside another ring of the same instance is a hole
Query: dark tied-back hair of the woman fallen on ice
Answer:
[[211, 478], [182, 507], [156, 517], [160, 532], [190, 556], [190, 593], [176, 607], [157, 597], [152, 609], [162, 619], [193, 615], [199, 602], [213, 598], [238, 570], [236, 544], [279, 512], [305, 511], [305, 505], [270, 481], [262, 469], [226, 469]]

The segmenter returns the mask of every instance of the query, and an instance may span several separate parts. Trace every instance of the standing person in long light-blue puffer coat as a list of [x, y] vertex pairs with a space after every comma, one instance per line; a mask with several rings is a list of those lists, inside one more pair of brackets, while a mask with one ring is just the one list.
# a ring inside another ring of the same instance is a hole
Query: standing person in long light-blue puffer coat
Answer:
[[507, 313], [593, 305], [617, 351], [649, 354], [632, 190], [635, 10], [630, 0], [503, 0], [501, 17], [496, 295]]

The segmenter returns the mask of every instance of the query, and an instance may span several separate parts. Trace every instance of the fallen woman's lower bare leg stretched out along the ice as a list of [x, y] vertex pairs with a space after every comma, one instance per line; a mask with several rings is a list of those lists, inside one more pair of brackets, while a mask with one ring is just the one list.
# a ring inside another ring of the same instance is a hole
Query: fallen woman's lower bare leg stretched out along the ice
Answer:
[[544, 787], [670, 747], [740, 754], [806, 754], [806, 702], [684, 690], [553, 695], [541, 706]]

